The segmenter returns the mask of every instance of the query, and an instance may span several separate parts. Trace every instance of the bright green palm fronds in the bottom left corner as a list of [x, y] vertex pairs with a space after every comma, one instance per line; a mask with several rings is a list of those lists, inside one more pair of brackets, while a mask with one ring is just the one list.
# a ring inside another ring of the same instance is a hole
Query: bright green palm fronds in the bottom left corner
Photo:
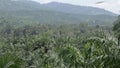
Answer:
[[1, 54], [0, 68], [22, 68], [22, 60], [15, 56], [15, 54]]

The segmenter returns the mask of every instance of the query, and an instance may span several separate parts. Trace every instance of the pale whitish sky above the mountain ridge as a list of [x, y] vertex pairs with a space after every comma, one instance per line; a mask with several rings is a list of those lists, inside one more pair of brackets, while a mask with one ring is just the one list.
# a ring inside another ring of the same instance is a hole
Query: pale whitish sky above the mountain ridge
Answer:
[[[55, 2], [69, 3], [73, 5], [99, 7], [114, 12], [116, 14], [120, 14], [120, 0], [33, 0], [33, 1], [42, 4], [55, 1]], [[98, 4], [97, 2], [103, 2], [103, 3]]]

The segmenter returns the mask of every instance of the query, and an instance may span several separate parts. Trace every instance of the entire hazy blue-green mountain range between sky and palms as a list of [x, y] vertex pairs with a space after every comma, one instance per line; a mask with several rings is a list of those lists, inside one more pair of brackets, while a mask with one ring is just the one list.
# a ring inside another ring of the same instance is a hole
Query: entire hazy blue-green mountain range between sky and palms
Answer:
[[[100, 8], [51, 2], [40, 4], [31, 0], [0, 0], [0, 17], [17, 21], [49, 24], [111, 25], [117, 15]], [[21, 23], [21, 22], [17, 22]]]

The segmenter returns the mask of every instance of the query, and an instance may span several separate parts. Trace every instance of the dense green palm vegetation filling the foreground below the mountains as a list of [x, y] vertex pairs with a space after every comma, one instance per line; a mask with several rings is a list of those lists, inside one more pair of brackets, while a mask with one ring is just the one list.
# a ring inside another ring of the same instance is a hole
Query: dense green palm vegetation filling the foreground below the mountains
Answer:
[[0, 19], [0, 68], [120, 68], [120, 19], [108, 26], [85, 23], [14, 26]]

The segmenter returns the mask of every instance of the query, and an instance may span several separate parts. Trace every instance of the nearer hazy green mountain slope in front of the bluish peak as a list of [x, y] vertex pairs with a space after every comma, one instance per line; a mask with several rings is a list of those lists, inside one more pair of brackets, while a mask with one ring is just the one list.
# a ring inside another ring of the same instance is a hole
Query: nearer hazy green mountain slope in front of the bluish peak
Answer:
[[[75, 9], [77, 10], [78, 8]], [[104, 13], [89, 14], [88, 10], [84, 13], [62, 12], [62, 11], [57, 11], [55, 8], [51, 9], [50, 7], [48, 7], [48, 5], [46, 6], [46, 4], [39, 4], [38, 2], [34, 2], [31, 0], [30, 1], [22, 0], [22, 1], [14, 1], [14, 2], [10, 2], [9, 0], [0, 1], [0, 10], [1, 10], [0, 11], [1, 16], [4, 16], [13, 21], [26, 20], [26, 21], [34, 21], [33, 23], [39, 22], [39, 23], [49, 23], [49, 24], [52, 23], [79, 24], [81, 22], [87, 22], [89, 24], [94, 24], [94, 25], [95, 24], [104, 25], [104, 24], [112, 24], [112, 22], [117, 17], [114, 16], [114, 14], [109, 14], [109, 13], [108, 15]], [[66, 11], [66, 9], [64, 10]]]

